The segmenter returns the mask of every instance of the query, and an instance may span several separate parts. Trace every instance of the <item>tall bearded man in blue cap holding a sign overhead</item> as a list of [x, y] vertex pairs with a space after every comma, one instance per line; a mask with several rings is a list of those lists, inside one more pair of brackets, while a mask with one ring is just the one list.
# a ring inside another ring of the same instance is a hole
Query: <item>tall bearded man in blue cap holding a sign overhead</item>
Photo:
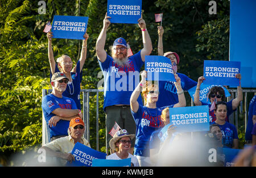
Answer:
[[[127, 44], [123, 38], [114, 40], [112, 55], [105, 51], [106, 31], [110, 25], [110, 16], [104, 18], [103, 28], [96, 43], [96, 54], [100, 68], [104, 73], [104, 111], [106, 113], [107, 147], [112, 138], [108, 133], [115, 122], [122, 129], [126, 129], [130, 134], [135, 134], [136, 125], [131, 115], [130, 97], [135, 86], [139, 83], [139, 72], [144, 64], [145, 56], [150, 55], [152, 43], [147, 32], [145, 21], [138, 19], [138, 26], [142, 31], [143, 49], [133, 56], [127, 57]], [[142, 98], [138, 98], [142, 105]], [[130, 152], [133, 152], [134, 141], [131, 144]], [[108, 149], [108, 148], [107, 148]]]

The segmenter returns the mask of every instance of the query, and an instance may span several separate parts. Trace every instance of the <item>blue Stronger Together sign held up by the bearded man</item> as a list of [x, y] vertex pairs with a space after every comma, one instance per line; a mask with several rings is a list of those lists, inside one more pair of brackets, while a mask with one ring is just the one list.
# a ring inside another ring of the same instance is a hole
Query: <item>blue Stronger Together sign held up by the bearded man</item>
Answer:
[[108, 0], [111, 23], [138, 23], [141, 18], [142, 0]]

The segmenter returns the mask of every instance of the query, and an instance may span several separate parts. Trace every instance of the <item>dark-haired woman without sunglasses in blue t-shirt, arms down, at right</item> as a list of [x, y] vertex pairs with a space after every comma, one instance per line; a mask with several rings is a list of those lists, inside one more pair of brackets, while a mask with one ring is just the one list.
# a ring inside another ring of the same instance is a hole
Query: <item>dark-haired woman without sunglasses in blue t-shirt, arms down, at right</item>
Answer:
[[216, 109], [214, 109], [214, 114], [216, 115], [216, 121], [213, 124], [217, 123], [220, 127], [222, 133], [222, 144], [223, 147], [228, 148], [238, 148], [238, 134], [236, 126], [232, 123], [226, 122], [227, 114], [227, 104], [224, 101], [219, 101], [216, 103]]

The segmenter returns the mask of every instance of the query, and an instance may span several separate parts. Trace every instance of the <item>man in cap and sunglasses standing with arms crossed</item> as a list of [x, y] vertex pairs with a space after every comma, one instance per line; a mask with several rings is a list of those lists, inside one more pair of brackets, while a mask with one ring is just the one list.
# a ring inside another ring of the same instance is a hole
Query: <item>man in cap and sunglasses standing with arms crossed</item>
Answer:
[[42, 109], [46, 123], [49, 125], [51, 141], [68, 135], [69, 121], [81, 117], [74, 100], [62, 94], [67, 88], [68, 78], [64, 73], [52, 75], [52, 93], [43, 98]]

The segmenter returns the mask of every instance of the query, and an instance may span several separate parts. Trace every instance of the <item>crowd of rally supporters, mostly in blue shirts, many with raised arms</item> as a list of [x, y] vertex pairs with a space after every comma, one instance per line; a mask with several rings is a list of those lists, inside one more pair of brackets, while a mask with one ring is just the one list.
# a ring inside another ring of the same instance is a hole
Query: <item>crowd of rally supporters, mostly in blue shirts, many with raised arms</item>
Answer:
[[[208, 160], [207, 156], [203, 156], [202, 160], [196, 158], [196, 156], [200, 157], [196, 153], [201, 148], [206, 147], [207, 149], [204, 151], [208, 151], [211, 147], [238, 148], [237, 129], [232, 123], [229, 123], [229, 115], [237, 109], [243, 99], [241, 85], [237, 86], [237, 97], [229, 102], [225, 102], [226, 97], [222, 87], [212, 87], [208, 94], [210, 101], [208, 104], [199, 100], [200, 85], [205, 80], [203, 76], [199, 77], [196, 82], [174, 69], [175, 82], [147, 81], [147, 72], [143, 71], [141, 81], [136, 83], [140, 76], [136, 74], [130, 76], [127, 73], [141, 72], [145, 56], [150, 55], [153, 49], [146, 22], [143, 18], [138, 20], [143, 41], [143, 48], [139, 52], [128, 57], [126, 40], [117, 38], [114, 40], [113, 46], [110, 47], [111, 55], [109, 55], [105, 50], [105, 42], [110, 18], [108, 14], [105, 15], [103, 27], [96, 42], [98, 63], [104, 73], [104, 111], [108, 143], [106, 149], [110, 149], [110, 155], [106, 159], [131, 158], [131, 165], [135, 167], [208, 165], [205, 162]], [[159, 26], [158, 55], [167, 57], [173, 66], [178, 66], [179, 55], [176, 52], [164, 53], [163, 51], [163, 34], [164, 29]], [[75, 143], [80, 142], [90, 147], [88, 140], [82, 137], [85, 124], [82, 121], [80, 103], [80, 83], [89, 35], [87, 33], [84, 35], [81, 57], [75, 67], [68, 55], [60, 56], [55, 62], [51, 44], [53, 35], [52, 32], [47, 34], [52, 93], [42, 100], [43, 114], [49, 126], [51, 142], [42, 148], [49, 155], [72, 162], [74, 157], [71, 151]], [[124, 74], [126, 74], [125, 77]], [[125, 78], [125, 82], [120, 85], [119, 80], [122, 77]], [[241, 74], [237, 74], [236, 77], [241, 80]], [[185, 107], [184, 90], [189, 90], [193, 86], [196, 86], [195, 105], [209, 106], [209, 132], [199, 132], [191, 139], [191, 133], [177, 133], [176, 126], [170, 125], [167, 130], [167, 138], [164, 141], [160, 140], [160, 130], [170, 124], [170, 108]], [[215, 107], [211, 110], [210, 107], [213, 104]], [[249, 108], [249, 122], [252, 124], [247, 132], [247, 137], [251, 140], [250, 144], [253, 145], [256, 143], [255, 108], [254, 97]], [[121, 127], [121, 130], [111, 136], [109, 133], [115, 123]], [[192, 140], [193, 142], [191, 142]], [[207, 143], [207, 146], [204, 142]], [[201, 154], [204, 151], [201, 151]], [[220, 164], [217, 165], [223, 165], [222, 154], [218, 155], [219, 159], [217, 160]], [[195, 160], [201, 162], [196, 163]]]

